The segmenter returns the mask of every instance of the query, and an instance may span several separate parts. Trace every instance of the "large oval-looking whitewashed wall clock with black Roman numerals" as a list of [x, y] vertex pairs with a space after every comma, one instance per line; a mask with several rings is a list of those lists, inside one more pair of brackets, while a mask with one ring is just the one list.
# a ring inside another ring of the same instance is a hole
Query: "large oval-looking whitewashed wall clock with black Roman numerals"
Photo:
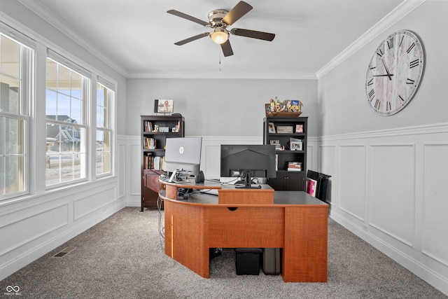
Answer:
[[413, 32], [395, 32], [382, 41], [365, 78], [367, 101], [372, 109], [390, 116], [405, 108], [419, 88], [423, 62], [423, 46]]

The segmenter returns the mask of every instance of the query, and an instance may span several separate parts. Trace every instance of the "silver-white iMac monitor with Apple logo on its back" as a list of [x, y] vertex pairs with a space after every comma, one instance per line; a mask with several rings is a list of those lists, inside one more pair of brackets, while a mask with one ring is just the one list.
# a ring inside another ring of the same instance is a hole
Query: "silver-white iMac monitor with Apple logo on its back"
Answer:
[[165, 172], [172, 172], [169, 181], [181, 181], [183, 176], [200, 173], [202, 137], [167, 138]]

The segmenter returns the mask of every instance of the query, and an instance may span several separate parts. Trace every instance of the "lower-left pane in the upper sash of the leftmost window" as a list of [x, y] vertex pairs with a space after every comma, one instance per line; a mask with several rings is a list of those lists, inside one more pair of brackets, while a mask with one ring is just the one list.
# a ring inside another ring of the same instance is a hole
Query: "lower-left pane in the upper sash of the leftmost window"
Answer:
[[0, 111], [20, 114], [20, 80], [0, 74]]

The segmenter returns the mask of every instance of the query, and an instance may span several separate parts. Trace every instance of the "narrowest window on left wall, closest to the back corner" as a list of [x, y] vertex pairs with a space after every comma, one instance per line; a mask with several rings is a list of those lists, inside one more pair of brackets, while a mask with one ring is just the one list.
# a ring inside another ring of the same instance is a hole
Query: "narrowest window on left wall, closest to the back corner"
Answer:
[[113, 90], [97, 83], [97, 175], [111, 172], [111, 104], [114, 96]]

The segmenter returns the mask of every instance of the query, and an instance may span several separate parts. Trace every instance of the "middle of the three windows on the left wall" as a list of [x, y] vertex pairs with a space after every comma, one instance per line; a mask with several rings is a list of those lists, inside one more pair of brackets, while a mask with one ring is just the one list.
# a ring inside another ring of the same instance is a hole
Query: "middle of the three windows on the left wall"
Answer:
[[47, 58], [46, 186], [86, 177], [85, 106], [89, 92], [90, 79]]

